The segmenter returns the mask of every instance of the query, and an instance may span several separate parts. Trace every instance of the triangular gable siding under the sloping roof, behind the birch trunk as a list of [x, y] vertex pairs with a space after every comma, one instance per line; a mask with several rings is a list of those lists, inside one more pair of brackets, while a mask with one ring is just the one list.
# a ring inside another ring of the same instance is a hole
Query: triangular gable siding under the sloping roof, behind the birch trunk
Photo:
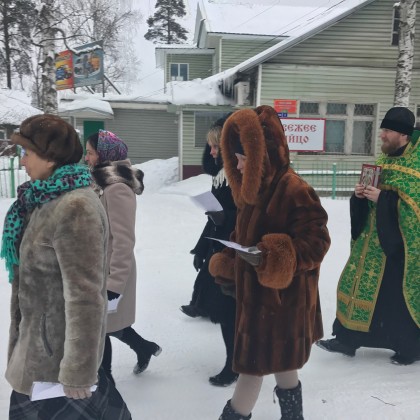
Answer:
[[[271, 62], [345, 67], [395, 69], [398, 47], [391, 45], [392, 16], [395, 0], [377, 0], [320, 34], [274, 57]], [[416, 34], [420, 30], [417, 8]], [[420, 66], [419, 52], [414, 67]]]

